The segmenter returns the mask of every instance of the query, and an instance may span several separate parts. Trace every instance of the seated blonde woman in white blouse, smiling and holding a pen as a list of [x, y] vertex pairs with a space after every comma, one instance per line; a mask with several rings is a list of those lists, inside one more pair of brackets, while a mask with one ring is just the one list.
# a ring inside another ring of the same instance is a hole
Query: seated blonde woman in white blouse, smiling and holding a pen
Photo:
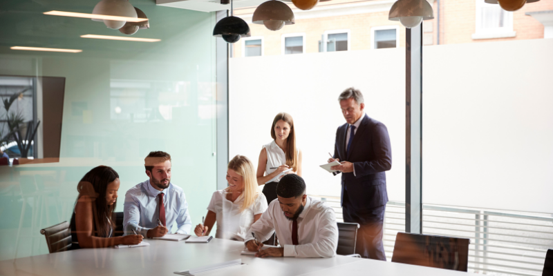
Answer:
[[250, 159], [236, 155], [227, 166], [227, 181], [227, 188], [213, 193], [205, 223], [194, 229], [198, 237], [209, 235], [217, 221], [216, 238], [243, 242], [247, 230], [267, 210], [267, 199], [259, 191]]

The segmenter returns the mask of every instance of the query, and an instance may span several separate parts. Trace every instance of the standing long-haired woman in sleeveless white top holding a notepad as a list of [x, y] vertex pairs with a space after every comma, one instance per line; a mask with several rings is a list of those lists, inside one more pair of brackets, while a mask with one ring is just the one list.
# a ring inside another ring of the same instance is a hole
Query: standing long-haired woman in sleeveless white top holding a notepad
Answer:
[[[272, 141], [266, 144], [259, 153], [257, 166], [257, 184], [263, 185], [279, 173], [292, 168], [289, 173], [301, 176], [301, 150], [296, 147], [294, 119], [290, 114], [281, 112], [274, 117], [271, 126]], [[277, 184], [280, 179], [265, 184], [263, 194], [267, 204], [277, 199]]]

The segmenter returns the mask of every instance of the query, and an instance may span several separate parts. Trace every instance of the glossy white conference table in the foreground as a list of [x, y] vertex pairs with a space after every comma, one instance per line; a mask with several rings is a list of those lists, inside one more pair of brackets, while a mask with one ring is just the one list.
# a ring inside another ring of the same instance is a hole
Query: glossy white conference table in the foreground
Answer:
[[246, 265], [223, 268], [202, 276], [258, 275], [474, 275], [424, 266], [337, 256], [326, 259], [290, 257], [256, 258], [240, 255], [242, 242], [212, 239], [209, 244], [186, 244], [160, 240], [145, 240], [150, 246], [137, 248], [79, 249], [62, 253], [24, 257], [0, 262], [0, 275], [5, 276], [171, 276], [174, 271], [189, 270], [209, 264], [242, 259]]

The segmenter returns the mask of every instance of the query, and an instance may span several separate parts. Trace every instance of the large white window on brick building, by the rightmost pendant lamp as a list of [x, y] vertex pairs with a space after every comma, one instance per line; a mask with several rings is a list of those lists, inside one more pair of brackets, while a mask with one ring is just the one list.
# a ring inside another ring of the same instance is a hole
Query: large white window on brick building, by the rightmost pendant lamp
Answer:
[[499, 5], [476, 0], [476, 32], [473, 39], [494, 39], [514, 37], [513, 13], [503, 10]]

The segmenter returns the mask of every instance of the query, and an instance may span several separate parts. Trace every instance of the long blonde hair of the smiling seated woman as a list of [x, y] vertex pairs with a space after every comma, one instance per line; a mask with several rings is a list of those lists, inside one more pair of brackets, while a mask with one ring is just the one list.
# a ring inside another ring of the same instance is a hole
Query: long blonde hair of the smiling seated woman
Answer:
[[234, 170], [238, 175], [242, 177], [244, 191], [242, 193], [244, 201], [240, 212], [250, 208], [255, 202], [255, 199], [259, 195], [259, 186], [257, 185], [257, 178], [255, 176], [254, 165], [250, 159], [243, 155], [236, 155], [230, 160], [227, 168]]

